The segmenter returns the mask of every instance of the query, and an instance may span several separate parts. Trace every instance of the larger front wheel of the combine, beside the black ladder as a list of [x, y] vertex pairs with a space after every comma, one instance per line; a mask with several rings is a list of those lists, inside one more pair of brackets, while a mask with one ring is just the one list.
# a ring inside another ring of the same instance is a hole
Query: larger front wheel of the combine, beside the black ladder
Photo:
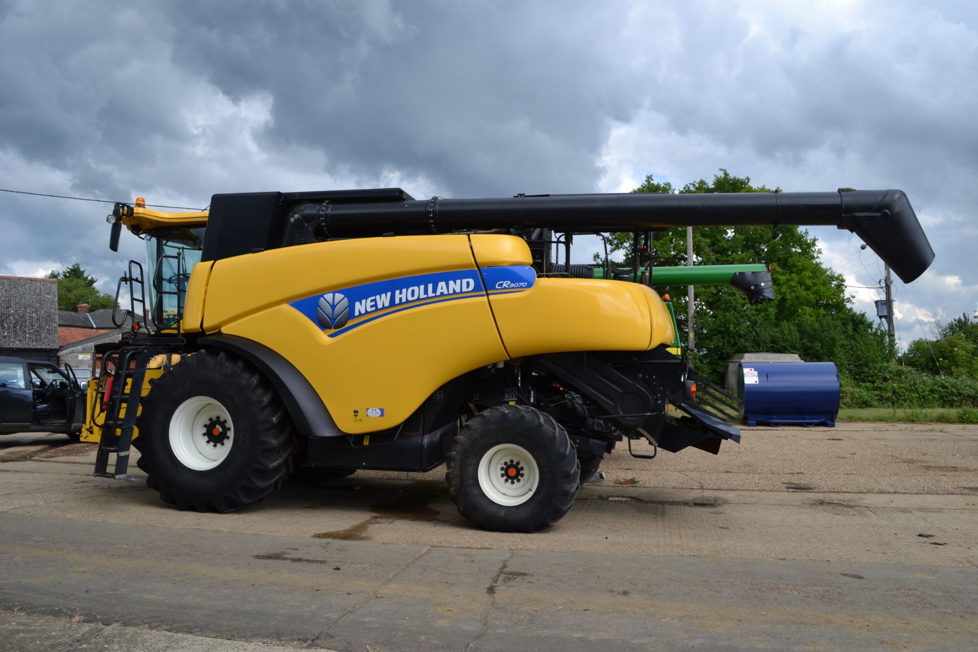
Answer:
[[258, 369], [204, 350], [150, 385], [133, 446], [160, 499], [180, 509], [226, 512], [281, 485], [289, 472], [292, 425]]

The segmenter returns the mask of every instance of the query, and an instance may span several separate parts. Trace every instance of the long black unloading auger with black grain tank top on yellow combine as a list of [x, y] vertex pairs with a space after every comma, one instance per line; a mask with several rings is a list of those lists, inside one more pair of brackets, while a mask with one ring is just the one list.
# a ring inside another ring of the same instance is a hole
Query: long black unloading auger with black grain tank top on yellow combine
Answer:
[[[478, 199], [415, 199], [400, 189], [215, 195], [211, 226], [225, 219], [241, 219], [240, 207], [252, 213], [246, 220], [249, 228], [262, 228], [258, 234], [261, 244], [254, 246], [263, 247], [320, 239], [497, 229], [542, 228], [582, 234], [684, 226], [824, 225], [859, 235], [906, 283], [923, 274], [934, 259], [907, 195], [897, 190]], [[254, 215], [255, 211], [263, 214]], [[240, 236], [237, 239], [244, 244]], [[208, 259], [207, 248], [204, 260]], [[224, 255], [251, 250], [221, 248]]]

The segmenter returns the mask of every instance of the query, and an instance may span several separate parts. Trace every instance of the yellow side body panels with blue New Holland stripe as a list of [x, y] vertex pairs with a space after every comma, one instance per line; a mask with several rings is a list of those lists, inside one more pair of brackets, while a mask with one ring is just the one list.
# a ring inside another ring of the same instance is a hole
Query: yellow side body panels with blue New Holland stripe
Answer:
[[538, 280], [530, 263], [511, 236], [348, 239], [218, 260], [190, 284], [206, 285], [204, 332], [278, 352], [350, 434], [397, 425], [449, 380], [511, 357], [673, 340], [647, 287]]

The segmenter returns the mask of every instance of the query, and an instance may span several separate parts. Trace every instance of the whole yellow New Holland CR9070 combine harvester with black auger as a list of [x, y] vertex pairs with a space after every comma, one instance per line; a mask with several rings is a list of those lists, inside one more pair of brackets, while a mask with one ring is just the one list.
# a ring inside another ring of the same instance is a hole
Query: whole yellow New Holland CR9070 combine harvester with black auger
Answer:
[[[260, 193], [215, 195], [209, 213], [137, 200], [110, 221], [113, 248], [121, 225], [146, 239], [154, 326], [91, 385], [98, 474], [125, 474], [134, 426], [148, 484], [202, 511], [261, 500], [292, 469], [447, 462], [467, 519], [520, 532], [556, 523], [617, 441], [717, 453], [739, 440], [667, 351], [672, 320], [644, 273], [654, 231], [836, 225], [908, 283], [934, 255], [899, 191]], [[625, 276], [640, 283], [570, 273], [573, 236], [609, 231], [634, 233]], [[123, 281], [138, 305], [138, 263]]]

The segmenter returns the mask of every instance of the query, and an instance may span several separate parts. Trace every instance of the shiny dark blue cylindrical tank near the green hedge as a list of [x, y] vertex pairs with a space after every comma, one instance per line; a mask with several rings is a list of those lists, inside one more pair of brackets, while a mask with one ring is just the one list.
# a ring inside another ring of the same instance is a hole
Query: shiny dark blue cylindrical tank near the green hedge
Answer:
[[736, 390], [747, 425], [834, 427], [839, 413], [835, 363], [741, 363]]

